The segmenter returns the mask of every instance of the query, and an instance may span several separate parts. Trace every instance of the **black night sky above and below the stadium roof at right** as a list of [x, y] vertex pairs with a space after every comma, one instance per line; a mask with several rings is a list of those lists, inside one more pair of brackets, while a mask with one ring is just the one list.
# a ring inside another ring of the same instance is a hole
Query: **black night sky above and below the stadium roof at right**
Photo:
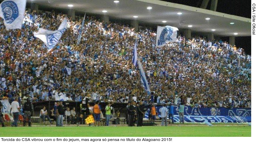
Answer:
[[[162, 0], [172, 3], [184, 4], [188, 6], [193, 6], [200, 8], [203, 0]], [[251, 1], [243, 0], [218, 0], [217, 12], [251, 18]], [[208, 3], [206, 9], [210, 10], [211, 0]], [[229, 39], [228, 37], [221, 37], [222, 39]], [[236, 47], [241, 47], [245, 49], [246, 54], [251, 54], [251, 36], [247, 37], [236, 37], [235, 44]]]

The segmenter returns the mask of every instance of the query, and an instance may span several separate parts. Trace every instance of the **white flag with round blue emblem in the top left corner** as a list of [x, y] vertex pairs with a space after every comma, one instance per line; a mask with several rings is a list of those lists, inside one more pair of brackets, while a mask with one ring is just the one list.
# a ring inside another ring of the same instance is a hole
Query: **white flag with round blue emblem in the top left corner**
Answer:
[[4, 0], [0, 4], [0, 16], [4, 19], [6, 29], [21, 29], [26, 0]]

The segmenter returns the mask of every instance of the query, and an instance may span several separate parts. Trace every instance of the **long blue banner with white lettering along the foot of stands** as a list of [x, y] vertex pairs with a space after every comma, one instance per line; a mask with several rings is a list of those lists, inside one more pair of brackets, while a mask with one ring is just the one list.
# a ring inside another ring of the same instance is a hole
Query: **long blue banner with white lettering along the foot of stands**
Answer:
[[[156, 106], [156, 111], [160, 117], [159, 109], [163, 106]], [[174, 122], [179, 122], [179, 108], [173, 106]], [[168, 110], [170, 106], [167, 107]], [[150, 109], [147, 109], [145, 118], [149, 118]], [[168, 114], [169, 119], [169, 114]], [[224, 123], [241, 123], [251, 122], [251, 108], [224, 108], [224, 107], [207, 107], [198, 108], [185, 106], [184, 107], [185, 122], [224, 122]]]

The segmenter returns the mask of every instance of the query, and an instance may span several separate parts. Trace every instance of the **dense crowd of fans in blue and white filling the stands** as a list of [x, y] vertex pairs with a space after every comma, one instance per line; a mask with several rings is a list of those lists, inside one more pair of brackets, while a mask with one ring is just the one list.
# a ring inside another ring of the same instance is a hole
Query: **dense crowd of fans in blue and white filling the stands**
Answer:
[[[129, 25], [106, 24], [86, 17], [68, 20], [57, 46], [47, 51], [33, 36], [38, 28], [56, 30], [64, 15], [25, 12], [22, 29], [6, 30], [0, 21], [0, 96], [10, 103], [31, 96], [44, 100], [92, 102], [142, 101], [199, 107], [250, 107], [251, 56], [226, 41], [185, 38], [156, 47], [151, 29], [135, 31]], [[132, 65], [138, 39], [138, 59], [151, 95], [141, 86], [139, 70]], [[236, 50], [234, 50], [236, 49]]]

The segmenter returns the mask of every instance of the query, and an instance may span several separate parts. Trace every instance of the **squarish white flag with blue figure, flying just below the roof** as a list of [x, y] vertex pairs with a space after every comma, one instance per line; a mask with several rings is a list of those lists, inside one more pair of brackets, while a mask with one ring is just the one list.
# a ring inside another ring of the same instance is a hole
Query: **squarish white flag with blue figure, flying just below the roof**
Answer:
[[166, 42], [177, 41], [177, 27], [172, 26], [157, 26], [157, 47], [163, 47]]

